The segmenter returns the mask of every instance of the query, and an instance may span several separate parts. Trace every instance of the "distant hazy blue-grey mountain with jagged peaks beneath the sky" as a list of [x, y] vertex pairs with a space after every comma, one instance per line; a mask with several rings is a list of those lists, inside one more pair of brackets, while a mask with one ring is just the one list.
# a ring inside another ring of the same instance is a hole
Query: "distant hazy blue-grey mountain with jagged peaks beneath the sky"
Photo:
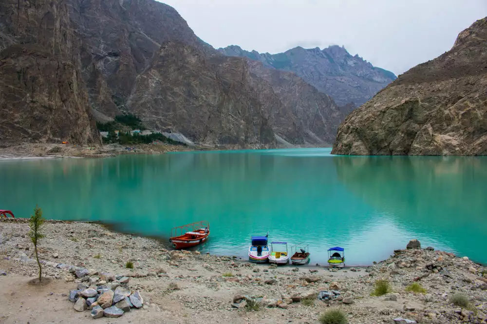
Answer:
[[339, 46], [323, 50], [296, 47], [278, 54], [245, 51], [235, 45], [218, 51], [228, 56], [260, 61], [266, 68], [294, 72], [319, 91], [330, 95], [338, 105], [351, 102], [360, 105], [396, 79], [392, 72], [376, 68]]

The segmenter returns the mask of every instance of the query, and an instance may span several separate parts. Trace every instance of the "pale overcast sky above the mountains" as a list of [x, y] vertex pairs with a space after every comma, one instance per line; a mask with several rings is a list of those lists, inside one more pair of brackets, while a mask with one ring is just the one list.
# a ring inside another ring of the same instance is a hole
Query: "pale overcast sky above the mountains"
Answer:
[[450, 50], [487, 0], [161, 0], [215, 48], [344, 45], [396, 75]]

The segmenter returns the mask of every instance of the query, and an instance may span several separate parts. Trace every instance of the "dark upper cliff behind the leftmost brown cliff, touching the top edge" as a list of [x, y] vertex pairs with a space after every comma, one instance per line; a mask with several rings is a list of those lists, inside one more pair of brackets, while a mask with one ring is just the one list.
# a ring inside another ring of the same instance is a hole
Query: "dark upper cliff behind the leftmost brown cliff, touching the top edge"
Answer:
[[154, 0], [69, 0], [80, 39], [83, 77], [97, 118], [125, 109], [135, 79], [165, 41], [176, 40], [207, 54], [215, 50], [199, 39], [172, 7]]

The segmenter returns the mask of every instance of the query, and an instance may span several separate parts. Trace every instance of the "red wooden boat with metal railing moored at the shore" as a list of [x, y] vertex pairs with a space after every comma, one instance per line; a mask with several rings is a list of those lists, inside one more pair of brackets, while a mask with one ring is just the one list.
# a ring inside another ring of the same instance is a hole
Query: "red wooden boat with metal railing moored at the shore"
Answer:
[[176, 250], [186, 249], [205, 242], [209, 235], [210, 224], [208, 222], [194, 222], [171, 229], [169, 242]]

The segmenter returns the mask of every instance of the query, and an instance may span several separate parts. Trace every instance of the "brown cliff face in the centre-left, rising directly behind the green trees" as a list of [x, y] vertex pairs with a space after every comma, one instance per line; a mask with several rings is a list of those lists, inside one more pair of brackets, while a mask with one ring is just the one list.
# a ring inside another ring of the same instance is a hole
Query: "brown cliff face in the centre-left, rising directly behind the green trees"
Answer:
[[177, 130], [199, 143], [273, 147], [267, 113], [250, 82], [244, 59], [208, 57], [167, 42], [137, 77], [127, 106], [151, 127]]

